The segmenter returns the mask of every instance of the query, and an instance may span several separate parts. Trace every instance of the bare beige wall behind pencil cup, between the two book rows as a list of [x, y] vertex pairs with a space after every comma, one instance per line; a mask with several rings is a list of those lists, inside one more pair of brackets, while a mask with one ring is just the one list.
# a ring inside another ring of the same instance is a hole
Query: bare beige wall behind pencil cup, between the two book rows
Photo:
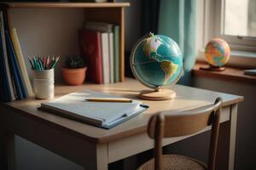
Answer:
[[[79, 54], [78, 30], [82, 27], [84, 13], [79, 8], [12, 8], [10, 23], [15, 27], [32, 77], [27, 55], [61, 55], [55, 69], [55, 82], [61, 81], [61, 63], [70, 54]], [[57, 76], [59, 75], [59, 76]]]

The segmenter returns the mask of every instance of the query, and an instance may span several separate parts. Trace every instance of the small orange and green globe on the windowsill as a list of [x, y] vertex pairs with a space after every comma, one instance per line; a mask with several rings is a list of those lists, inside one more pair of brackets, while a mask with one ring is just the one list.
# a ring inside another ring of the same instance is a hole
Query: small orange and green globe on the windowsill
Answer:
[[215, 67], [225, 65], [230, 59], [230, 46], [220, 38], [213, 38], [205, 48], [207, 62]]

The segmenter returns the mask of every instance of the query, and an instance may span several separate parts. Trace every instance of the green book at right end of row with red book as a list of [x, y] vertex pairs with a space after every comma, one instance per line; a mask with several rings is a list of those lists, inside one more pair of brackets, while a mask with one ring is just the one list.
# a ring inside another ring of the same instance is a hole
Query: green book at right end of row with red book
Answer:
[[113, 74], [114, 82], [120, 82], [119, 79], [119, 26], [113, 26]]

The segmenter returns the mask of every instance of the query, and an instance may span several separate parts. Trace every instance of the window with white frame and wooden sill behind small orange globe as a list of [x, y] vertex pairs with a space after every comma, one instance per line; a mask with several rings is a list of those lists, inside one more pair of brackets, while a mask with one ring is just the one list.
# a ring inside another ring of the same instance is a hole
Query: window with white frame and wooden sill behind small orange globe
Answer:
[[231, 48], [228, 65], [256, 67], [256, 0], [196, 0], [197, 60], [213, 37]]

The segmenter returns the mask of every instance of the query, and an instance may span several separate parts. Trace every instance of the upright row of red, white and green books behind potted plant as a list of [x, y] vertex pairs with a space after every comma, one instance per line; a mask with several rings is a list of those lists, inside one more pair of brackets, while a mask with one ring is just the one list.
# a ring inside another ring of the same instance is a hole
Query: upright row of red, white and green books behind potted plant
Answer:
[[79, 31], [80, 53], [88, 64], [87, 80], [119, 82], [119, 26], [86, 22]]

